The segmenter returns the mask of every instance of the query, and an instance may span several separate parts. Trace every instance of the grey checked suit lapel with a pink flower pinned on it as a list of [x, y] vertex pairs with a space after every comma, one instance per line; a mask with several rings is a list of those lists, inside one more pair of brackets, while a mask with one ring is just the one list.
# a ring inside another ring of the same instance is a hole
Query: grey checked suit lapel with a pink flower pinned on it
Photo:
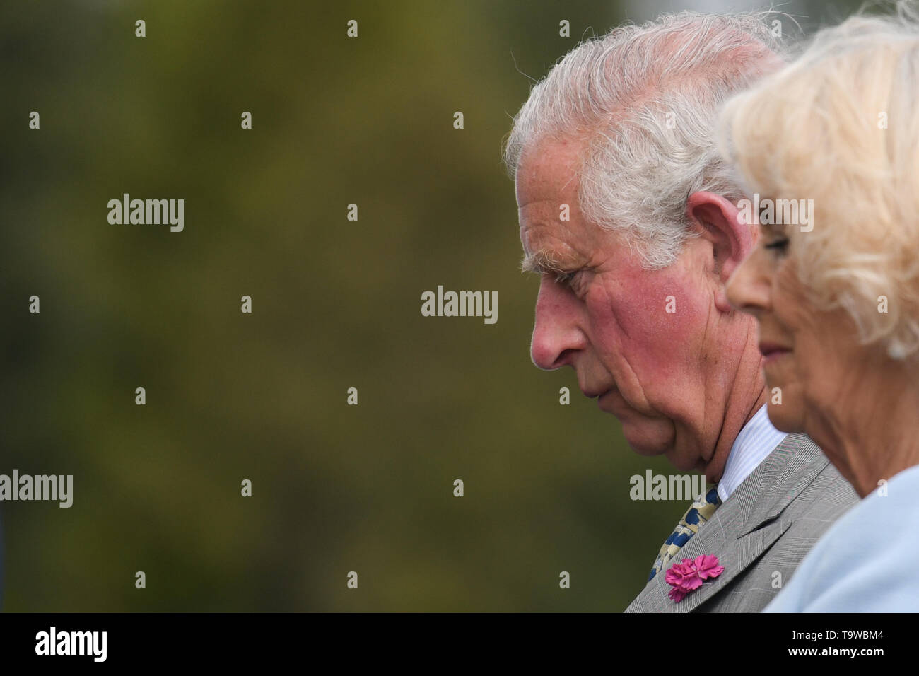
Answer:
[[778, 517], [826, 462], [820, 449], [806, 436], [789, 434], [676, 555], [682, 560], [713, 554], [718, 556], [724, 572], [676, 603], [668, 597], [673, 588], [662, 570], [626, 612], [688, 613], [708, 601], [789, 529], [791, 521]]

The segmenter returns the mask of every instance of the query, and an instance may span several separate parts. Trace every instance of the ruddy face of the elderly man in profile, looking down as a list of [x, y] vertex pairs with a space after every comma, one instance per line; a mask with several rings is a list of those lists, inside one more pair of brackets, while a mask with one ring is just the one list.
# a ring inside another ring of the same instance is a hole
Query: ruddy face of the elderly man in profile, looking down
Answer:
[[[681, 470], [701, 470], [723, 425], [738, 341], [747, 336], [720, 324], [704, 238], [690, 238], [672, 266], [649, 271], [623, 235], [585, 222], [577, 151], [576, 143], [544, 143], [517, 171], [520, 240], [528, 267], [541, 275], [533, 362], [571, 366], [584, 395], [599, 397], [637, 453], [664, 453]], [[569, 221], [560, 220], [562, 204]], [[567, 279], [558, 281], [556, 271]]]

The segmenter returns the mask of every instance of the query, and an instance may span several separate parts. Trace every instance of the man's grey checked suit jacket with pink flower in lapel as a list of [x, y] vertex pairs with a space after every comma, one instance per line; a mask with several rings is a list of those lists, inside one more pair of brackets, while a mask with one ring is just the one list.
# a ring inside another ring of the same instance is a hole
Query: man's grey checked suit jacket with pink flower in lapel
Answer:
[[668, 598], [673, 588], [658, 573], [625, 612], [758, 613], [781, 590], [776, 573], [788, 583], [811, 546], [858, 499], [809, 437], [789, 434], [676, 555], [679, 561], [714, 554], [724, 572], [679, 603]]

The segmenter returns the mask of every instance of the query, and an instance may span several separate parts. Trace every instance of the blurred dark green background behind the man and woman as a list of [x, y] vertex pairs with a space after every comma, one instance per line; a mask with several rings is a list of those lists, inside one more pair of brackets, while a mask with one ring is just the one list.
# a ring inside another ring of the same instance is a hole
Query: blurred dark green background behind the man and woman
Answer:
[[[683, 8], [719, 7], [5, 4], [0, 473], [74, 505], [0, 503], [4, 609], [624, 609], [686, 503], [631, 501], [669, 465], [530, 362], [501, 142], [582, 36]], [[185, 231], [110, 225], [124, 192]], [[438, 284], [497, 324], [423, 317]]]

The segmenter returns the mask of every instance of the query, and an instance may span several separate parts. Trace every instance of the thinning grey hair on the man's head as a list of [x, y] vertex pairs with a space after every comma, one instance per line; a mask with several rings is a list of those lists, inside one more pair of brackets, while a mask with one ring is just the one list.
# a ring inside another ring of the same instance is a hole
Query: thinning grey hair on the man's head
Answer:
[[645, 268], [671, 265], [690, 236], [690, 194], [743, 197], [714, 127], [725, 99], [789, 58], [766, 23], [775, 16], [681, 12], [584, 40], [532, 86], [514, 117], [509, 174], [516, 179], [521, 157], [543, 141], [583, 142], [584, 216], [629, 232]]

